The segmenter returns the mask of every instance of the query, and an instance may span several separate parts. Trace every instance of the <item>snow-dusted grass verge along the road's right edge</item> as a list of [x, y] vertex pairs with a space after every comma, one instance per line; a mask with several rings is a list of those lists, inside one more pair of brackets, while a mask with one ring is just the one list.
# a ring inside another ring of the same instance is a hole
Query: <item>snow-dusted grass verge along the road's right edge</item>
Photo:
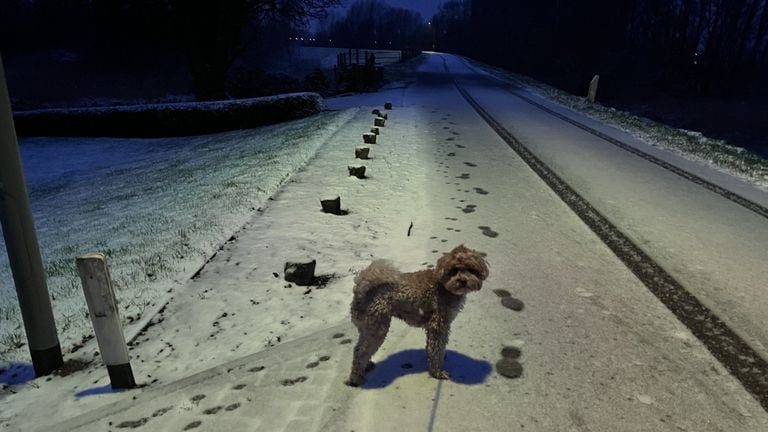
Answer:
[[671, 151], [686, 159], [739, 177], [762, 190], [768, 190], [768, 160], [749, 150], [730, 145], [724, 140], [704, 136], [701, 132], [674, 128], [600, 103], [590, 104], [585, 97], [570, 94], [525, 75], [477, 60], [466, 60], [498, 78], [523, 84], [534, 93], [627, 132], [649, 145]]

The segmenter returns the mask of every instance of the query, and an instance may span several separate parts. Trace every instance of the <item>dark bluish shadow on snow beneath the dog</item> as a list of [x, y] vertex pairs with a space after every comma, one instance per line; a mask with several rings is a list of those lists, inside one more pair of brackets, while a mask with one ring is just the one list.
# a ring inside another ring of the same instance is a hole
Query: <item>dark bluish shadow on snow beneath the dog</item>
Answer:
[[[451, 376], [450, 380], [457, 384], [477, 385], [485, 382], [493, 367], [485, 360], [475, 360], [448, 350], [445, 353], [445, 370]], [[366, 374], [362, 388], [384, 388], [402, 376], [426, 372], [427, 351], [425, 349], [400, 351], [376, 363], [376, 367]]]

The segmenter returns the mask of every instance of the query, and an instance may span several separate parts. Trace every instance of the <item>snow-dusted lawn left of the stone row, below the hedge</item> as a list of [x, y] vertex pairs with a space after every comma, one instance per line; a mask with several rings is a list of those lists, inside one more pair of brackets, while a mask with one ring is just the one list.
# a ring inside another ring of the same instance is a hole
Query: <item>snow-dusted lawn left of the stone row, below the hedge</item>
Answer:
[[[91, 333], [77, 255], [107, 255], [121, 316], [139, 320], [352, 114], [324, 112], [188, 138], [22, 139], [62, 346], [69, 349]], [[0, 360], [26, 360], [25, 341], [7, 256], [0, 253]]]

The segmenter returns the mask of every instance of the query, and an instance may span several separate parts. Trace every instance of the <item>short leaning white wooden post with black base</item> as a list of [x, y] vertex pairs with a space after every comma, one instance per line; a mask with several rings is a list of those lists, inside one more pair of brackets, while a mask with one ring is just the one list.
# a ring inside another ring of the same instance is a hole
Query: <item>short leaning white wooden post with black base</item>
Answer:
[[136, 387], [107, 260], [98, 253], [81, 255], [77, 257], [77, 272], [112, 388]]

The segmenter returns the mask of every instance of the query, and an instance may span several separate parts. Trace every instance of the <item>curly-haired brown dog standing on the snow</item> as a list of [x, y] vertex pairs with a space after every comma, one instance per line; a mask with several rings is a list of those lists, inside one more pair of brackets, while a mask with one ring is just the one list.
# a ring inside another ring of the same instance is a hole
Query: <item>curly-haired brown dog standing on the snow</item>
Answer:
[[443, 362], [451, 322], [464, 306], [466, 294], [479, 290], [487, 277], [488, 263], [464, 245], [437, 260], [433, 270], [400, 273], [389, 261], [372, 262], [355, 278], [351, 309], [359, 337], [347, 384], [358, 386], [365, 381], [392, 317], [425, 330], [429, 373], [448, 378]]

